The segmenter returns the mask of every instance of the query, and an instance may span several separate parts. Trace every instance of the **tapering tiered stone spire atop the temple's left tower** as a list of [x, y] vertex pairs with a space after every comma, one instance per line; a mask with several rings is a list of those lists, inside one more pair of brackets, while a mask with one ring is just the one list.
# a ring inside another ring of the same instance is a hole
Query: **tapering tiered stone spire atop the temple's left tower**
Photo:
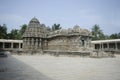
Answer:
[[30, 20], [23, 37], [44, 37], [45, 29], [43, 26], [45, 25], [40, 24], [39, 20], [33, 17]]

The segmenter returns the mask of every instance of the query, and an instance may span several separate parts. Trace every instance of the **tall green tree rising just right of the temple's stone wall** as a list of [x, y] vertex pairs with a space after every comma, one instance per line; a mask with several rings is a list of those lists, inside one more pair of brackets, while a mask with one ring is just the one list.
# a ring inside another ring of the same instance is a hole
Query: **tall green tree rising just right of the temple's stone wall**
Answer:
[[102, 40], [105, 39], [105, 35], [100, 29], [99, 25], [95, 24], [92, 27], [92, 35], [93, 35], [93, 40]]

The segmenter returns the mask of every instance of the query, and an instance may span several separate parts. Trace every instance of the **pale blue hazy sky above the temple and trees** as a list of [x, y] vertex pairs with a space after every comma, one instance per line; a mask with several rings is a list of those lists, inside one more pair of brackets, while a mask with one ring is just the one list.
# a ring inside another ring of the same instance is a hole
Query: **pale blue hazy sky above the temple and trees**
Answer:
[[0, 25], [6, 24], [8, 32], [29, 24], [33, 17], [65, 29], [79, 25], [91, 30], [97, 24], [110, 35], [120, 32], [120, 0], [0, 0]]

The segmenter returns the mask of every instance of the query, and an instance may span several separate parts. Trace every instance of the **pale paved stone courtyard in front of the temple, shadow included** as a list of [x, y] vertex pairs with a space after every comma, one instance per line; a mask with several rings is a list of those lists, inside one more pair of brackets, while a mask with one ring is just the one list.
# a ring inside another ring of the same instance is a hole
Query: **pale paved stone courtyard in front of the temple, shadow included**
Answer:
[[120, 80], [120, 55], [116, 58], [9, 55], [0, 57], [0, 80]]

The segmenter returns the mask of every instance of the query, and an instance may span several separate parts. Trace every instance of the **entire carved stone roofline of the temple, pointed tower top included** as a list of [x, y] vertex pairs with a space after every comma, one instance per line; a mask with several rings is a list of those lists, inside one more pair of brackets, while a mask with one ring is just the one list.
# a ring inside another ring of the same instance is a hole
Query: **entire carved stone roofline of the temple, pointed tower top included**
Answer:
[[89, 36], [92, 37], [92, 34], [87, 29], [82, 29], [80, 26], [75, 25], [71, 29], [60, 29], [55, 31], [47, 31], [44, 24], [40, 24], [37, 18], [32, 18], [29, 22], [29, 25], [23, 35], [23, 37], [42, 37], [42, 38], [50, 38], [54, 36], [73, 36], [73, 35], [81, 35], [81, 36]]

